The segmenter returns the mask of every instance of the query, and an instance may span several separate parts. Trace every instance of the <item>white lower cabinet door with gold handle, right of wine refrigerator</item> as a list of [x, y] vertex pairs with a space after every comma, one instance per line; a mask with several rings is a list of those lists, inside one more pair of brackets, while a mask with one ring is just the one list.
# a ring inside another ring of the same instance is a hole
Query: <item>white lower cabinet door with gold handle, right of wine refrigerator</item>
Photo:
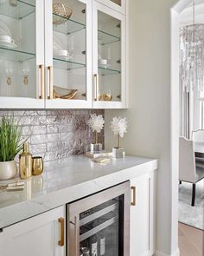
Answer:
[[154, 174], [131, 181], [131, 256], [150, 256], [154, 246]]

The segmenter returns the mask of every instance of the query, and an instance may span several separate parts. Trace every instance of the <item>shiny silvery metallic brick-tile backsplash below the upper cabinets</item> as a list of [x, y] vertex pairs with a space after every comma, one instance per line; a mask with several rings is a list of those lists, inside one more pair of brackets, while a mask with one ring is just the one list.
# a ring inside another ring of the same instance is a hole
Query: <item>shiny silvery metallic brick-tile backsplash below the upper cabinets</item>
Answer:
[[[93, 113], [104, 115], [104, 110], [0, 111], [0, 116], [14, 115], [31, 154], [52, 161], [88, 150], [93, 134], [86, 123]], [[104, 131], [99, 142], [104, 144]]]

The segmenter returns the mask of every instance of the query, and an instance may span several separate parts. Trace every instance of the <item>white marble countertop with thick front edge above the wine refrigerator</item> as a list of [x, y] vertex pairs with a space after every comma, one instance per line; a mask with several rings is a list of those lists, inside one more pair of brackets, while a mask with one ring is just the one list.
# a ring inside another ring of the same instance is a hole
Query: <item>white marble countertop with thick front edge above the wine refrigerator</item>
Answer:
[[156, 160], [137, 156], [112, 159], [105, 165], [94, 163], [84, 155], [47, 162], [42, 175], [25, 181], [23, 191], [0, 192], [0, 228], [131, 180], [156, 168]]

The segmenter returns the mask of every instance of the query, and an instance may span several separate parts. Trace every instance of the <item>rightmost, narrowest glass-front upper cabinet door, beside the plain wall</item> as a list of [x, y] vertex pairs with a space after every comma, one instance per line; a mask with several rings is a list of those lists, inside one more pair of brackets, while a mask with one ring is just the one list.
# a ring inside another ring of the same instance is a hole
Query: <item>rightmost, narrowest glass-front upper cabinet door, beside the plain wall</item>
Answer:
[[93, 108], [125, 108], [125, 16], [93, 4]]

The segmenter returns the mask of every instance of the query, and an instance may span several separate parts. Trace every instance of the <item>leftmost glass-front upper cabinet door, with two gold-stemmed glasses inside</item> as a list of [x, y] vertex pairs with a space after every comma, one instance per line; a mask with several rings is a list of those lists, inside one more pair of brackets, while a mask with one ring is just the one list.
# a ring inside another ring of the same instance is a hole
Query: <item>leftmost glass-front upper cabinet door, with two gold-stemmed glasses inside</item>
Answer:
[[0, 0], [0, 108], [44, 108], [44, 4]]

